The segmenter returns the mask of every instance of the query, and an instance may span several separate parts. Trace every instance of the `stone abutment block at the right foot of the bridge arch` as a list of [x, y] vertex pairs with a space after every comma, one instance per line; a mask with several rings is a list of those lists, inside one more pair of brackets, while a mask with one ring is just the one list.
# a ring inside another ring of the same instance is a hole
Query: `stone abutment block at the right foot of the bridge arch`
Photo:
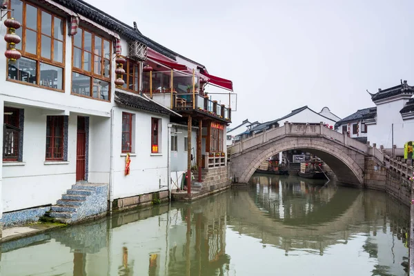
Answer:
[[373, 190], [386, 190], [387, 169], [373, 157], [365, 157], [364, 186]]

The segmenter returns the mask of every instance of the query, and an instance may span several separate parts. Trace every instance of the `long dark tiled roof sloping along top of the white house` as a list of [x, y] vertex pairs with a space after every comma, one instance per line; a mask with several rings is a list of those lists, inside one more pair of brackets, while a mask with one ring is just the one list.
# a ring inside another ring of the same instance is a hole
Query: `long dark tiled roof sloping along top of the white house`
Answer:
[[161, 46], [161, 44], [153, 41], [152, 39], [149, 39], [148, 37], [144, 36], [143, 34], [135, 30], [131, 26], [128, 26], [126, 23], [123, 23], [119, 21], [118, 19], [111, 17], [109, 14], [106, 14], [106, 12], [103, 12], [97, 9], [94, 6], [84, 1], [81, 1], [81, 0], [55, 0], [55, 1], [57, 3], [60, 3], [62, 6], [65, 6], [66, 8], [70, 8], [70, 10], [73, 10], [74, 12], [77, 12], [78, 14], [81, 14], [90, 20], [97, 22], [110, 30], [118, 32], [120, 35], [123, 35], [124, 37], [127, 37], [128, 39], [137, 40], [145, 44], [152, 50], [155, 50], [159, 52], [160, 54], [166, 57], [169, 57], [170, 59], [175, 59], [175, 57], [177, 56], [177, 53], [172, 52], [172, 50], [169, 50], [168, 48]]

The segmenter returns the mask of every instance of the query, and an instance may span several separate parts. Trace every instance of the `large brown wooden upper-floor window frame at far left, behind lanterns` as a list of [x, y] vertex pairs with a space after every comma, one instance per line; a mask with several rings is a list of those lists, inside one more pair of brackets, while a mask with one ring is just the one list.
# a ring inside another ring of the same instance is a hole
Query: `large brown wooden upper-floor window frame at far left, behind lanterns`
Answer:
[[[17, 79], [9, 79], [8, 77], [8, 71], [9, 71], [9, 66], [8, 66], [8, 62], [6, 62], [6, 80], [7, 81], [12, 81], [15, 83], [21, 83], [21, 84], [26, 84], [28, 86], [35, 86], [38, 88], [43, 88], [43, 89], [48, 89], [48, 90], [55, 90], [58, 92], [64, 92], [65, 90], [65, 56], [66, 56], [66, 18], [65, 17], [61, 17], [59, 15], [57, 15], [54, 12], [51, 12], [50, 10], [47, 10], [46, 8], [42, 8], [40, 6], [37, 6], [35, 3], [33, 2], [29, 2], [26, 0], [20, 0], [22, 2], [23, 5], [23, 10], [22, 10], [22, 22], [21, 22], [21, 42], [19, 43], [19, 45], [21, 46], [21, 50], [19, 50], [19, 52], [21, 52], [21, 57], [24, 57], [26, 59], [30, 59], [32, 61], [36, 62], [36, 83], [29, 83], [27, 81], [19, 81]], [[12, 2], [9, 1], [8, 3], [8, 8], [12, 9]], [[27, 5], [30, 5], [34, 8], [37, 8], [37, 30], [34, 30], [33, 28], [29, 28], [28, 26], [26, 26], [26, 10], [27, 10]], [[51, 22], [51, 34], [43, 34], [42, 30], [41, 30], [41, 17], [42, 17], [42, 12], [46, 12], [48, 14], [50, 14], [50, 16], [52, 17], [52, 22]], [[11, 17], [11, 13], [9, 13], [8, 17]], [[60, 19], [63, 23], [63, 39], [57, 39], [55, 38], [55, 18]], [[27, 30], [31, 30], [33, 32], [36, 32], [36, 38], [37, 38], [37, 43], [36, 43], [36, 54], [32, 54], [29, 52], [26, 52], [26, 32]], [[41, 37], [42, 35], [50, 38], [50, 59], [46, 58], [46, 57], [42, 57], [41, 56]], [[54, 41], [59, 41], [62, 43], [63, 45], [63, 52], [62, 52], [62, 62], [59, 61], [55, 61], [53, 60], [55, 57], [55, 43]], [[17, 63], [19, 62], [16, 61]], [[59, 88], [53, 88], [53, 87], [49, 87], [49, 86], [43, 86], [40, 84], [40, 64], [41, 63], [46, 63], [50, 66], [56, 66], [62, 69], [62, 89]]]

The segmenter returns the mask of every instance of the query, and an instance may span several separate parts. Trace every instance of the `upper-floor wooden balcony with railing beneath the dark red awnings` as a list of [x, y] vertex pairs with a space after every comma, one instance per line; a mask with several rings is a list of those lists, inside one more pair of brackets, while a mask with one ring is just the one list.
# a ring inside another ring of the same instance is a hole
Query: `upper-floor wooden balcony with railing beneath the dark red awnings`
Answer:
[[174, 70], [143, 72], [143, 92], [176, 112], [204, 115], [219, 121], [231, 121], [231, 109], [212, 100], [199, 88], [199, 79], [188, 72]]

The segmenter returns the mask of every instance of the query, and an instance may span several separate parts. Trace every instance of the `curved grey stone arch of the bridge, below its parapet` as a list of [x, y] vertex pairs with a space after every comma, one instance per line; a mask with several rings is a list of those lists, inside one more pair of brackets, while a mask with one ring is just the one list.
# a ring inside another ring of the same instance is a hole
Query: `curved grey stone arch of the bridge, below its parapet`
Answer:
[[364, 184], [364, 155], [327, 137], [284, 136], [232, 157], [233, 173], [247, 183], [263, 161], [285, 150], [304, 150], [321, 158], [347, 184]]

